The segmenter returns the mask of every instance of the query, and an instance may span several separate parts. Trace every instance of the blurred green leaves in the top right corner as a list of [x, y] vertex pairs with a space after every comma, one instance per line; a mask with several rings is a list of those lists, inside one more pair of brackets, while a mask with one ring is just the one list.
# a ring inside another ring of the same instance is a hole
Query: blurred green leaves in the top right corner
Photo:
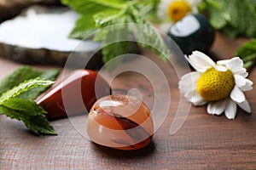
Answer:
[[256, 37], [254, 0], [203, 0], [199, 9], [215, 29], [229, 37]]

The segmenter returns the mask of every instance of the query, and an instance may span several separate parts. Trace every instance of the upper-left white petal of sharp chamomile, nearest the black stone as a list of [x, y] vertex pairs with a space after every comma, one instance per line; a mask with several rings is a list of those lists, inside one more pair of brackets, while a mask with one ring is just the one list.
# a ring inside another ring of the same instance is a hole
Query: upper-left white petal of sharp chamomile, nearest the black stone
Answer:
[[207, 69], [215, 65], [214, 61], [206, 54], [203, 54], [199, 51], [194, 51], [189, 57], [185, 56], [189, 61], [189, 64], [194, 67], [196, 71], [204, 72]]

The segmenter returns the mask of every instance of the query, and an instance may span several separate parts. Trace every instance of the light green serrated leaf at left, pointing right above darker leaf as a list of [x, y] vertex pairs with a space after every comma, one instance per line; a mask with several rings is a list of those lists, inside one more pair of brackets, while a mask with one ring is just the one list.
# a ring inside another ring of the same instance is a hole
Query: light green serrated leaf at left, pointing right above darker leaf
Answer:
[[26, 82], [21, 82], [19, 86], [12, 88], [9, 91], [2, 94], [2, 96], [0, 97], [0, 105], [3, 103], [3, 101], [10, 99], [10, 98], [15, 98], [16, 96], [18, 96], [32, 88], [49, 87], [53, 83], [54, 82], [52, 82], [52, 81], [40, 80], [38, 78], [29, 80]]

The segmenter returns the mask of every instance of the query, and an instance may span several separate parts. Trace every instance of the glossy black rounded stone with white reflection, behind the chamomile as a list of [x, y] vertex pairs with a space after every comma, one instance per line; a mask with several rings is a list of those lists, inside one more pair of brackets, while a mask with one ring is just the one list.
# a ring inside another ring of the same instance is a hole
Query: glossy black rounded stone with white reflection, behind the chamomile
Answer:
[[177, 43], [183, 54], [195, 50], [207, 53], [214, 41], [215, 31], [201, 14], [188, 14], [173, 25], [167, 35]]

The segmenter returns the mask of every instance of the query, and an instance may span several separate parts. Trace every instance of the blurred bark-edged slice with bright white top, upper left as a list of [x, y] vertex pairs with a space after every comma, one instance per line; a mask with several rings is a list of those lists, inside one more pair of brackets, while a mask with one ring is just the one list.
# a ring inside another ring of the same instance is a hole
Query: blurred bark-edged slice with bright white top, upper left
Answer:
[[[70, 8], [32, 6], [0, 25], [0, 56], [28, 65], [64, 66], [73, 52], [78, 53], [75, 67], [98, 69], [103, 65], [101, 43], [68, 37], [77, 19]], [[139, 53], [137, 43], [130, 48]], [[90, 59], [88, 65], [82, 65], [83, 59]]]

